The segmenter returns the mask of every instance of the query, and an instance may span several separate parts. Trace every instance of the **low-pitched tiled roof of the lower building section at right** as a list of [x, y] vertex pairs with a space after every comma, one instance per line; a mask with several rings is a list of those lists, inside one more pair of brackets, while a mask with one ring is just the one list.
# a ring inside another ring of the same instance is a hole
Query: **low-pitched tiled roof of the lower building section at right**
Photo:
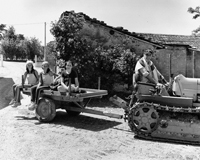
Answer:
[[200, 36], [149, 34], [149, 33], [137, 33], [137, 34], [156, 43], [162, 43], [167, 45], [188, 45], [200, 51]]

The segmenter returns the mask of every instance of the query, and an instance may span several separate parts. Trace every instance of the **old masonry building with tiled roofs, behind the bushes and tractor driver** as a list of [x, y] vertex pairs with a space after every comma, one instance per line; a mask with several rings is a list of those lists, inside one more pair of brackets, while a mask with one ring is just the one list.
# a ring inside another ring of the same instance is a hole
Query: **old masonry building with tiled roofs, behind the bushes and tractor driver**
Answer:
[[[61, 16], [71, 12], [74, 11], [66, 11]], [[94, 39], [101, 39], [105, 45], [128, 43], [138, 56], [145, 49], [156, 50], [153, 61], [166, 79], [169, 79], [170, 74], [200, 77], [200, 36], [129, 32], [123, 27], [112, 27], [96, 18], [90, 18], [84, 13], [77, 14], [85, 19], [82, 30], [85, 37], [93, 35]]]

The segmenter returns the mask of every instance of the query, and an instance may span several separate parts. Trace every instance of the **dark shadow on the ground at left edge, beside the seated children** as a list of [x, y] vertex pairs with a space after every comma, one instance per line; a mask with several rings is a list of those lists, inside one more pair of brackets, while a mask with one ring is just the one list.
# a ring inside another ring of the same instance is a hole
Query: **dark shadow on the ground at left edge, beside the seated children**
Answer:
[[14, 81], [12, 78], [0, 77], [0, 109], [8, 106], [12, 98], [12, 86]]

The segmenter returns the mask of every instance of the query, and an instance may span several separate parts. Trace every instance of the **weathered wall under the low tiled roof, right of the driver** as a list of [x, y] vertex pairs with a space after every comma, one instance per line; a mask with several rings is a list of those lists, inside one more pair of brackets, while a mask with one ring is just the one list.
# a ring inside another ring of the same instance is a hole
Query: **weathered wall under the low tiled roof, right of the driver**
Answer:
[[174, 76], [182, 74], [185, 77], [200, 78], [200, 52], [189, 50], [186, 46], [174, 45], [158, 50], [153, 62], [167, 80], [170, 71]]

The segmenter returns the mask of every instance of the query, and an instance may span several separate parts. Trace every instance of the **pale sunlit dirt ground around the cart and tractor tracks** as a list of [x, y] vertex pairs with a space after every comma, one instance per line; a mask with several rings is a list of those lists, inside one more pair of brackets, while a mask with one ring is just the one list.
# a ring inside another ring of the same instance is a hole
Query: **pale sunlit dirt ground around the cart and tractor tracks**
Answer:
[[[4, 67], [0, 67], [1, 160], [200, 159], [199, 146], [135, 138], [123, 119], [85, 113], [70, 117], [64, 110], [57, 110], [53, 122], [40, 123], [35, 113], [27, 110], [30, 97], [23, 96], [18, 108], [7, 106], [12, 95], [11, 82], [20, 83], [24, 66], [24, 63], [4, 62]], [[88, 108], [123, 114], [122, 109], [111, 105], [96, 104]]]

